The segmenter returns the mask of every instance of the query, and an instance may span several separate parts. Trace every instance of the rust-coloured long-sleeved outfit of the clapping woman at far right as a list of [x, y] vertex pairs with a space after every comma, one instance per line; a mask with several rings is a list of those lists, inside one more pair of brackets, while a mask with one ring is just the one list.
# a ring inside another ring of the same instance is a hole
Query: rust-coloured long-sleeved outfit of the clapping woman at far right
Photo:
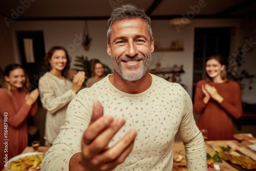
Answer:
[[198, 120], [199, 129], [208, 130], [207, 140], [233, 139], [232, 118], [238, 119], [243, 113], [239, 84], [230, 80], [223, 83], [208, 83], [217, 89], [224, 100], [218, 103], [214, 99], [210, 99], [207, 104], [203, 102], [205, 97], [202, 91], [203, 84], [207, 84], [207, 82], [201, 80], [197, 83], [193, 105], [195, 113], [201, 114]]

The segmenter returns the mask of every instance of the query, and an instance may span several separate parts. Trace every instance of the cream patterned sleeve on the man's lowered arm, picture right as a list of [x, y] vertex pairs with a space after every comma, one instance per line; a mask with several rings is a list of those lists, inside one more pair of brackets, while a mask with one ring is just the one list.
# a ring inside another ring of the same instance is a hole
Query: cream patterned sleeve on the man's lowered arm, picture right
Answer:
[[184, 114], [178, 135], [185, 146], [188, 170], [207, 170], [204, 139], [193, 116], [193, 105], [187, 93], [184, 93]]

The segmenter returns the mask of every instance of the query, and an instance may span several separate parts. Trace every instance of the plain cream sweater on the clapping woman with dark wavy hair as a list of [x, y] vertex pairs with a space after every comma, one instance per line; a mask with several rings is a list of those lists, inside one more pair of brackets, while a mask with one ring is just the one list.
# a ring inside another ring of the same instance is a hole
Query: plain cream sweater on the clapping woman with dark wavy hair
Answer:
[[46, 145], [52, 144], [65, 123], [66, 110], [69, 102], [76, 95], [71, 90], [72, 82], [69, 79], [59, 79], [47, 72], [39, 79], [39, 92], [42, 106], [46, 113]]

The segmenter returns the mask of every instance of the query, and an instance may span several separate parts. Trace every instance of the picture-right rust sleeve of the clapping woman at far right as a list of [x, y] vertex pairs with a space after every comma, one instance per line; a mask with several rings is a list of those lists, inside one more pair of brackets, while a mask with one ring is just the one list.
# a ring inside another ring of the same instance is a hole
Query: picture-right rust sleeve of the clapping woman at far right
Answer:
[[[232, 117], [238, 119], [243, 114], [242, 109], [242, 94], [240, 86], [237, 82], [232, 81], [230, 88], [232, 88], [232, 99], [227, 100], [226, 98], [220, 103], [222, 108]], [[232, 102], [231, 102], [232, 101]]]

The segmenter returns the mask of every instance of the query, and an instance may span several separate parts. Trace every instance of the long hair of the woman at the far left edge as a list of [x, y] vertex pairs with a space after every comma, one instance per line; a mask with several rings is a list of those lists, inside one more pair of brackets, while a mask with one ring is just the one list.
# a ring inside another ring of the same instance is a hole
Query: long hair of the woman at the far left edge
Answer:
[[20, 68], [24, 71], [24, 75], [25, 75], [25, 78], [26, 78], [26, 81], [25, 81], [23, 87], [20, 88], [20, 90], [22, 90], [26, 93], [29, 93], [29, 77], [28, 77], [28, 74], [27, 74], [27, 72], [26, 72], [26, 70], [23, 66], [21, 66], [19, 64], [16, 64], [16, 63], [6, 66], [6, 68], [3, 72], [3, 77], [2, 77], [2, 87], [7, 89], [10, 92], [12, 91], [12, 86], [8, 81], [5, 80], [5, 76], [9, 77], [10, 72], [15, 70], [15, 69], [18, 69], [18, 68]]

